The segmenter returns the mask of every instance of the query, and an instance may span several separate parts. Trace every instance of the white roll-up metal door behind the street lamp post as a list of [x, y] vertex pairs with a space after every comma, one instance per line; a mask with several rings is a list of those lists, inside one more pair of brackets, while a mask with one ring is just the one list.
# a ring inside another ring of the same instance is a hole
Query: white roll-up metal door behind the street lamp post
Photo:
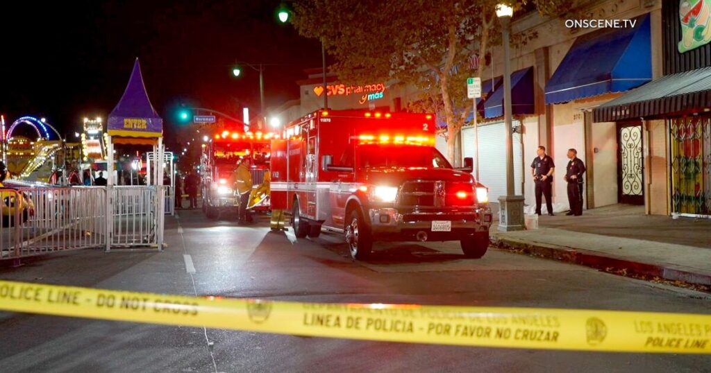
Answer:
[[[513, 126], [518, 126], [518, 122]], [[513, 134], [513, 183], [517, 195], [521, 195], [522, 153], [520, 134]], [[498, 202], [499, 197], [506, 195], [506, 130], [503, 123], [479, 126], [479, 157], [479, 181], [488, 187], [489, 200]]]

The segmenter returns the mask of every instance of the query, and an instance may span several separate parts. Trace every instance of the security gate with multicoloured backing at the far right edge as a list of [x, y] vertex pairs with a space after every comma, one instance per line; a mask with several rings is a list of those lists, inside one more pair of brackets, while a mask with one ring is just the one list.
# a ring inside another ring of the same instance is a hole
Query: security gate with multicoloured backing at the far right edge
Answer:
[[711, 217], [711, 117], [670, 119], [672, 212]]

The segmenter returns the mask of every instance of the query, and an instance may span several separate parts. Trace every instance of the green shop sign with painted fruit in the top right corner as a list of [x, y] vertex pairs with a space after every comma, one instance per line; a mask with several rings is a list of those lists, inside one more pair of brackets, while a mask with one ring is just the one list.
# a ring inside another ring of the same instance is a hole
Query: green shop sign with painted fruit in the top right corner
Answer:
[[711, 0], [680, 0], [680, 53], [688, 52], [711, 41]]

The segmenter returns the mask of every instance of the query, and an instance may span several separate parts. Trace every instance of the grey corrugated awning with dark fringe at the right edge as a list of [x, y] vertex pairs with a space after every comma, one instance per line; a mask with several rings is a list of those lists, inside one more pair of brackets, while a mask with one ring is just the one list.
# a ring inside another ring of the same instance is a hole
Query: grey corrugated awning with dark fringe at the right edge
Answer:
[[593, 121], [619, 121], [711, 108], [711, 67], [666, 75], [596, 107]]

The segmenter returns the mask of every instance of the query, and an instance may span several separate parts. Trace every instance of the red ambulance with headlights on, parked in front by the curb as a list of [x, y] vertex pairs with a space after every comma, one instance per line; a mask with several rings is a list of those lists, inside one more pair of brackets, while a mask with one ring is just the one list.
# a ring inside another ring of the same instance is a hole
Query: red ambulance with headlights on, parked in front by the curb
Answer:
[[272, 209], [292, 212], [296, 237], [343, 232], [364, 259], [373, 241], [461, 241], [488, 247], [487, 189], [434, 148], [432, 114], [321, 110], [272, 141]]

